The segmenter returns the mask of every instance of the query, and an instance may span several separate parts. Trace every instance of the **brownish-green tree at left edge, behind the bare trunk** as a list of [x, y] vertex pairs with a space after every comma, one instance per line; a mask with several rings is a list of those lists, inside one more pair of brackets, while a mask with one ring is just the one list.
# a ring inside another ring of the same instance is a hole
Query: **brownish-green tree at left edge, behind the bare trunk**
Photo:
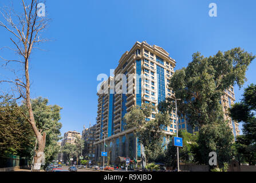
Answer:
[[11, 96], [0, 96], [0, 155], [14, 154], [30, 158], [34, 134], [21, 109]]

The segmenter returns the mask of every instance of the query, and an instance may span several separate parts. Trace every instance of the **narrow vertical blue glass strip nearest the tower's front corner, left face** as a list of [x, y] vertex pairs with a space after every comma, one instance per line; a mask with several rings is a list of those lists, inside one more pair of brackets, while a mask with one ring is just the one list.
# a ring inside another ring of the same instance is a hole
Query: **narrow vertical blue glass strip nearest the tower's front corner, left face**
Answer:
[[136, 105], [141, 106], [141, 60], [136, 60]]

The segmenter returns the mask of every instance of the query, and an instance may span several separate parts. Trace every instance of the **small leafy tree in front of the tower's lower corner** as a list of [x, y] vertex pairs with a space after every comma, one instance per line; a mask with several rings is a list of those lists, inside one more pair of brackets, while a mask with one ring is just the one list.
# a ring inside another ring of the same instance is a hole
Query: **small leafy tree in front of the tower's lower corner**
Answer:
[[167, 113], [156, 113], [155, 120], [147, 121], [146, 118], [151, 116], [152, 112], [156, 112], [156, 108], [152, 104], [143, 104], [134, 106], [124, 116], [125, 129], [134, 129], [134, 134], [143, 144], [145, 156], [149, 159], [157, 157], [162, 152], [162, 139], [165, 136], [163, 130], [170, 123]]

